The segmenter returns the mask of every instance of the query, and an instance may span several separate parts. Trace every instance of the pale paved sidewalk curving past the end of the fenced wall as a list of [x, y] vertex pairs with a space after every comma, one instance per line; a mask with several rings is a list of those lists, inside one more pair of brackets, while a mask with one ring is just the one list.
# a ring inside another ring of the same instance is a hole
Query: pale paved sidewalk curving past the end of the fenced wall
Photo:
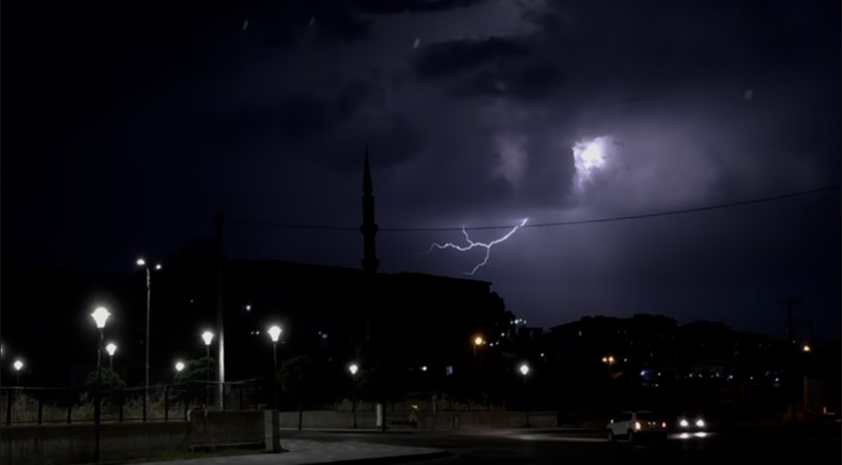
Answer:
[[[226, 457], [202, 457], [173, 460], [173, 465], [227, 465], [245, 463], [254, 465], [303, 465], [315, 463], [343, 463], [376, 465], [385, 463], [416, 462], [446, 457], [447, 452], [427, 447], [387, 446], [358, 441], [324, 442], [306, 439], [280, 440], [288, 452], [276, 454], [254, 453]], [[161, 462], [147, 462], [148, 465]], [[141, 465], [147, 465], [141, 464]]]

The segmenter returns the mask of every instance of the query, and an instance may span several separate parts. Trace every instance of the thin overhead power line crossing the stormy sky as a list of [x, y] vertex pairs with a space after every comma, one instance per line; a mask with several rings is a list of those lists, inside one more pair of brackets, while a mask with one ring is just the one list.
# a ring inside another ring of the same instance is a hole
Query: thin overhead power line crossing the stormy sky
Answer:
[[[671, 216], [674, 214], [690, 214], [690, 213], [698, 213], [704, 212], [708, 210], [717, 210], [717, 209], [730, 209], [733, 207], [740, 207], [743, 205], [750, 205], [753, 203], [766, 203], [766, 202], [773, 202], [776, 200], [783, 200], [786, 198], [793, 198], [793, 197], [801, 197], [805, 195], [810, 195], [814, 193], [823, 193], [832, 190], [836, 190], [842, 187], [840, 184], [836, 184], [833, 186], [826, 186], [824, 188], [816, 188], [810, 189], [808, 191], [800, 191], [796, 193], [784, 193], [781, 195], [774, 195], [771, 197], [764, 197], [764, 198], [754, 198], [751, 200], [742, 200], [739, 202], [729, 202], [729, 203], [717, 203], [715, 205], [707, 205], [704, 207], [694, 207], [689, 209], [676, 209], [676, 210], [667, 210], [663, 212], [655, 212], [655, 213], [646, 213], [646, 214], [630, 214], [626, 216], [613, 216], [609, 218], [594, 218], [594, 219], [576, 219], [570, 221], [555, 221], [551, 223], [533, 223], [533, 224], [526, 224], [522, 226], [523, 228], [550, 228], [556, 226], [573, 226], [573, 225], [590, 225], [594, 223], [612, 223], [615, 221], [628, 221], [631, 219], [646, 219], [646, 218], [655, 218], [658, 216]], [[284, 228], [290, 230], [333, 230], [333, 231], [359, 231], [359, 226], [330, 226], [330, 225], [296, 225], [290, 223], [273, 223], [269, 221], [252, 221], [246, 219], [232, 219], [228, 220], [229, 223], [237, 224], [237, 225], [255, 225], [255, 226], [271, 226], [275, 228]], [[449, 227], [438, 227], [438, 228], [380, 228], [381, 231], [387, 232], [435, 232], [435, 231], [461, 231], [461, 230], [510, 230], [514, 228], [514, 225], [488, 225], [488, 226], [465, 226], [464, 228], [461, 226], [449, 226]]]

